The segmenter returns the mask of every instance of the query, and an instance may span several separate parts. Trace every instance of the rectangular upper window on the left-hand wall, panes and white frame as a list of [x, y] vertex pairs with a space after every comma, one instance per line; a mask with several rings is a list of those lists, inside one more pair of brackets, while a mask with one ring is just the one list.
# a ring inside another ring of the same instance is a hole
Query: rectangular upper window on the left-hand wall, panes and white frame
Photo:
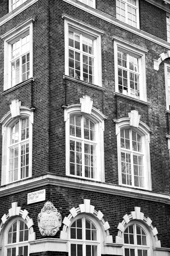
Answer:
[[32, 23], [5, 35], [4, 90], [32, 78]]

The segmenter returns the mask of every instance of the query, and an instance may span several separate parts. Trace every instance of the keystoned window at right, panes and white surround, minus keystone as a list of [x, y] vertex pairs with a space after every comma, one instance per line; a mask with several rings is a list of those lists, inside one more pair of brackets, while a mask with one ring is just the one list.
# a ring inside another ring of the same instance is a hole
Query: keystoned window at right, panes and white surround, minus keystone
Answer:
[[142, 125], [130, 127], [123, 119], [116, 124], [119, 184], [150, 190], [150, 130]]

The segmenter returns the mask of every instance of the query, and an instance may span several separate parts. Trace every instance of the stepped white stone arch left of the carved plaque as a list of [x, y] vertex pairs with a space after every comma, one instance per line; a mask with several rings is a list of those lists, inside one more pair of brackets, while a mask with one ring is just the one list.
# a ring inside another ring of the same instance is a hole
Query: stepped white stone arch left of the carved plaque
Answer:
[[12, 207], [8, 209], [8, 214], [4, 214], [3, 217], [1, 218], [2, 222], [0, 224], [0, 233], [3, 230], [3, 227], [11, 217], [17, 217], [20, 216], [23, 218], [24, 221], [26, 221], [27, 227], [30, 231], [29, 235], [29, 241], [35, 240], [35, 233], [33, 229], [34, 222], [31, 218], [28, 216], [28, 211], [26, 209], [22, 210], [21, 207], [17, 206], [17, 202], [12, 203]]

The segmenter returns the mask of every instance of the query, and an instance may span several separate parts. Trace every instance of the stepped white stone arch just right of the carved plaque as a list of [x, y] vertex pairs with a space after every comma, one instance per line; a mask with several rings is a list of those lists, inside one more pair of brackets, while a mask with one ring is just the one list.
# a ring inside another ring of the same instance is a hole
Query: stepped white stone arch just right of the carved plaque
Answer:
[[77, 208], [75, 207], [71, 208], [69, 212], [70, 214], [68, 215], [68, 217], [65, 217], [64, 220], [62, 221], [64, 225], [63, 225], [62, 231], [60, 232], [60, 239], [68, 239], [68, 236], [67, 236], [68, 227], [70, 227], [72, 219], [75, 218], [80, 213], [86, 213], [86, 214], [93, 215], [94, 218], [96, 218], [97, 221], [100, 223], [103, 230], [105, 242], [113, 243], [112, 236], [110, 236], [109, 234], [110, 226], [108, 224], [108, 221], [106, 222], [104, 221], [102, 212], [96, 211], [94, 209], [94, 206], [90, 204], [89, 199], [84, 199], [84, 204], [79, 204], [79, 207]]

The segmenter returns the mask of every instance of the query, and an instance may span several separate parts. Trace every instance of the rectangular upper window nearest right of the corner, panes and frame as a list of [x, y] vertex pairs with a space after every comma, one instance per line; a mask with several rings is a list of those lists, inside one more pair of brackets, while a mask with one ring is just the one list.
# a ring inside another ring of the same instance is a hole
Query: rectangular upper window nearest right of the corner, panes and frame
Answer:
[[102, 85], [100, 35], [65, 20], [65, 75]]

